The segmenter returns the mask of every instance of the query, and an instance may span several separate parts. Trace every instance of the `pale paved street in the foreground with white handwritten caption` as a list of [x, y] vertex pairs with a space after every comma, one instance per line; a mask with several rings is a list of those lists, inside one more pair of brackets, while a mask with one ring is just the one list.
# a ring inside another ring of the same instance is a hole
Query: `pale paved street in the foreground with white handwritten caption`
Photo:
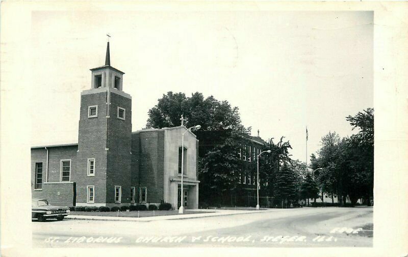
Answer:
[[372, 208], [305, 207], [181, 220], [33, 221], [33, 246], [370, 247], [372, 217]]

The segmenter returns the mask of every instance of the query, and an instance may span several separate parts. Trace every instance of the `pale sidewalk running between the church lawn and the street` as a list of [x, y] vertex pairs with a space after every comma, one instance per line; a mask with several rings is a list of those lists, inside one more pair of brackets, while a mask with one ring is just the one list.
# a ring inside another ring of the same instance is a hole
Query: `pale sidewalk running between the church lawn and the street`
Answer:
[[227, 216], [237, 214], [251, 214], [257, 212], [272, 212], [276, 209], [260, 209], [257, 210], [234, 210], [234, 209], [190, 209], [189, 211], [208, 212], [197, 214], [183, 214], [183, 215], [166, 215], [166, 216], [151, 216], [151, 217], [109, 217], [109, 216], [86, 216], [86, 215], [68, 215], [65, 219], [72, 220], [106, 220], [106, 221], [156, 221], [156, 220], [181, 220], [194, 219], [213, 216]]

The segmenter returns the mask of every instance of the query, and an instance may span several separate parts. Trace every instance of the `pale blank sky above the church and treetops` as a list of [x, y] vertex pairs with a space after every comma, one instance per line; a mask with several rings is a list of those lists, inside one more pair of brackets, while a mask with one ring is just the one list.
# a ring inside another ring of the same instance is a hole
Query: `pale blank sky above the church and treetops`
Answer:
[[31, 17], [32, 146], [78, 142], [90, 68], [120, 69], [133, 131], [168, 91], [239, 107], [263, 139], [285, 136], [305, 161], [345, 117], [373, 107], [373, 12], [35, 11]]

